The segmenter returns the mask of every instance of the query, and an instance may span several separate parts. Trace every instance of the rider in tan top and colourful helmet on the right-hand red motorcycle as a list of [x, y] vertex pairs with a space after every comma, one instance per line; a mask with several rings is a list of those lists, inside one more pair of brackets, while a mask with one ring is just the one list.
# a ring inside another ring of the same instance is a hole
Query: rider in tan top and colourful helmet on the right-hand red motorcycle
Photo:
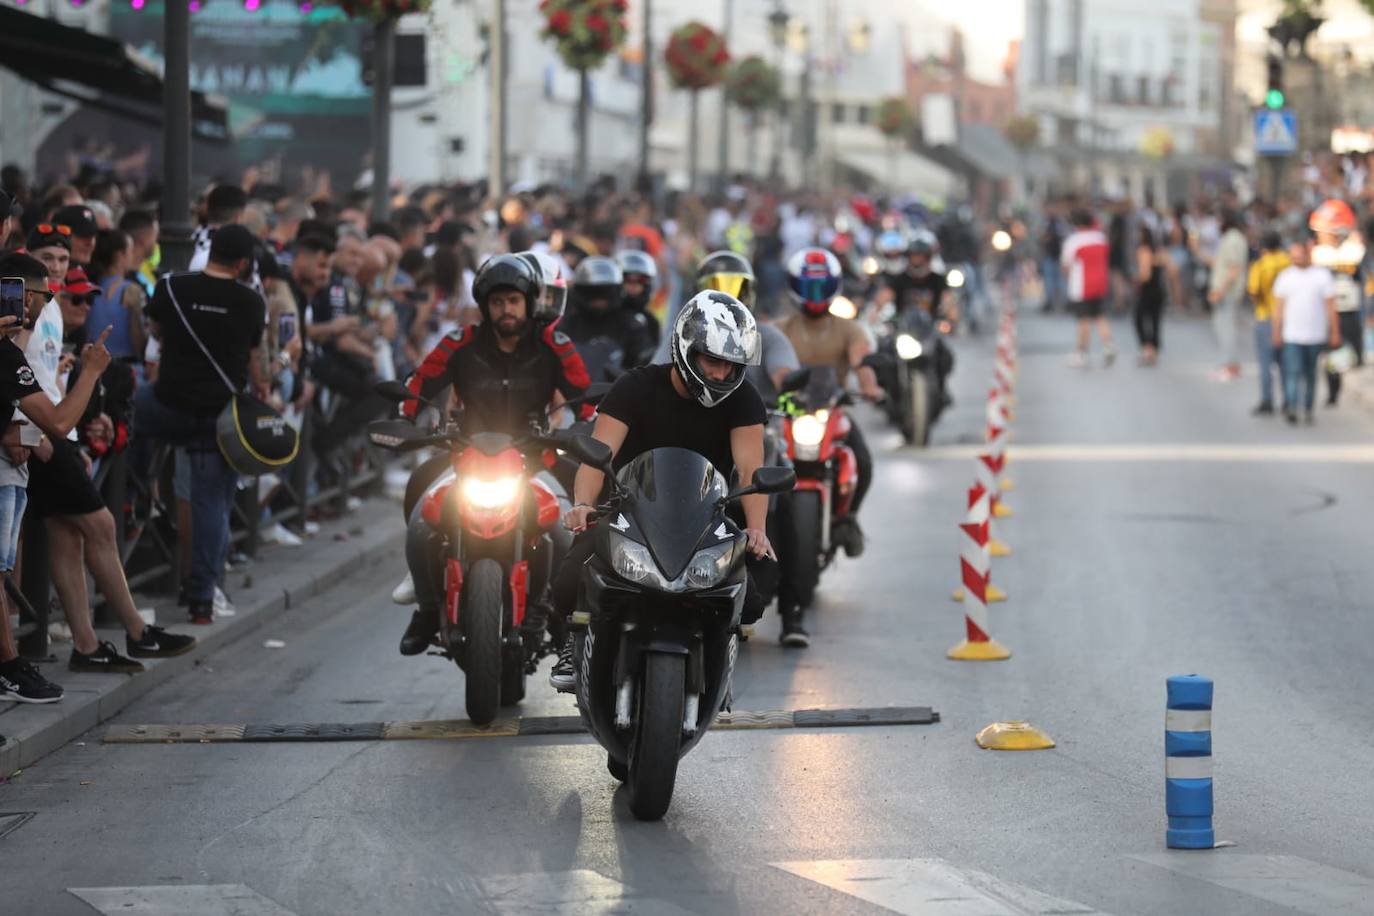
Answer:
[[[798, 312], [783, 319], [779, 327], [797, 349], [802, 365], [834, 368], [835, 380], [841, 385], [853, 371], [859, 376], [859, 393], [870, 401], [881, 401], [883, 394], [878, 376], [864, 365], [864, 357], [872, 353], [868, 334], [856, 320], [830, 313], [842, 279], [840, 260], [830, 251], [802, 249], [793, 254], [787, 260], [787, 290]], [[872, 483], [872, 453], [857, 423], [849, 424], [848, 444], [855, 453], [859, 482], [849, 515], [835, 520], [833, 537], [845, 553], [859, 556], [864, 547], [859, 507]]]

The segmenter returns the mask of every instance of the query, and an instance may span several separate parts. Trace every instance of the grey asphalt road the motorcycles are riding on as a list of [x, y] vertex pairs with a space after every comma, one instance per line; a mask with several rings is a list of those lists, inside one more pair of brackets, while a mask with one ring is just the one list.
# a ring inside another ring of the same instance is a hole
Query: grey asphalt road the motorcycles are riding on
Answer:
[[[100, 728], [0, 787], [0, 812], [36, 812], [0, 839], [0, 909], [1374, 912], [1371, 408], [1252, 419], [1249, 376], [1206, 380], [1201, 324], [1167, 324], [1156, 369], [1069, 369], [1069, 335], [1022, 320], [1015, 553], [993, 563], [1011, 600], [991, 611], [1014, 656], [944, 658], [959, 446], [991, 374], [987, 342], [962, 342], [936, 449], [870, 426], [870, 549], [823, 581], [812, 648], [780, 650], [769, 618], [736, 672], [739, 709], [925, 705], [940, 724], [712, 733], [660, 824], [629, 816], [585, 737], [109, 746]], [[397, 655], [392, 584], [291, 611], [117, 722], [462, 717], [451, 663]], [[1216, 827], [1237, 846], [1167, 853], [1164, 681], [1191, 672], [1216, 681]], [[573, 707], [540, 683], [523, 711]], [[1058, 747], [978, 750], [1006, 718]]]

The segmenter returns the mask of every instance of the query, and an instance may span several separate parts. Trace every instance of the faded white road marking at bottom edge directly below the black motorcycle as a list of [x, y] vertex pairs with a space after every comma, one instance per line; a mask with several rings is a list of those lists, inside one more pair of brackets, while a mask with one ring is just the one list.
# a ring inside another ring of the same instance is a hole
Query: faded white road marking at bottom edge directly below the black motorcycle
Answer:
[[569, 872], [491, 875], [475, 879], [482, 904], [497, 913], [627, 913], [691, 916], [665, 900], [642, 895], [614, 878], [580, 868]]

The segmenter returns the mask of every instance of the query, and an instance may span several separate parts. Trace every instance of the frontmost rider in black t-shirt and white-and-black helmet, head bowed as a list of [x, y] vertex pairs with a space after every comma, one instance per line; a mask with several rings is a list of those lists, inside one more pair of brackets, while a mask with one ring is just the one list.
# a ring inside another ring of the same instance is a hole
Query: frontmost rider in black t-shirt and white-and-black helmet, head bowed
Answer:
[[[650, 449], [684, 448], [703, 455], [727, 478], [738, 471], [747, 483], [764, 463], [767, 419], [763, 398], [745, 378], [761, 349], [754, 316], [732, 295], [698, 293], [677, 314], [671, 349], [671, 365], [646, 365], [617, 379], [600, 402], [592, 435], [610, 446], [616, 470]], [[588, 515], [603, 486], [602, 471], [578, 468], [574, 504], [563, 516], [577, 537], [554, 584], [554, 611], [563, 619], [577, 604], [581, 570], [594, 547]], [[778, 563], [765, 533], [768, 497], [746, 496], [742, 504], [749, 585], [741, 619], [752, 623], [763, 615]], [[573, 683], [572, 640], [563, 640], [550, 684], [567, 692]]]

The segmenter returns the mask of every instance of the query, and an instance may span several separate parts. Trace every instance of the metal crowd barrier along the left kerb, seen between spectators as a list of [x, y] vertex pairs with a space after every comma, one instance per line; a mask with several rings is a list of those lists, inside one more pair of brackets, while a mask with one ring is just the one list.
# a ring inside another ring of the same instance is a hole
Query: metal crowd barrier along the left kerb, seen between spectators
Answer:
[[[261, 478], [243, 478], [238, 500], [229, 519], [231, 549], [256, 558], [261, 545], [260, 523], [264, 508], [271, 509], [272, 522], [280, 522], [298, 536], [305, 534], [305, 523], [312, 514], [341, 515], [348, 511], [348, 499], [375, 492], [383, 479], [390, 453], [375, 449], [359, 431], [344, 455], [342, 472], [327, 488], [313, 485], [315, 453], [311, 433], [319, 422], [316, 409], [306, 411], [301, 423], [301, 450], [280, 475], [269, 501], [260, 493]], [[180, 549], [177, 500], [174, 499], [176, 452], [166, 444], [154, 449], [147, 479], [136, 477], [125, 452], [107, 455], [93, 478], [106, 508], [114, 515], [115, 542], [129, 581], [129, 589], [174, 592], [181, 584], [184, 558]], [[23, 548], [21, 558], [22, 588], [7, 581], [7, 593], [19, 608], [19, 654], [26, 658], [48, 656], [48, 536], [45, 525], [34, 518], [23, 520]], [[104, 615], [96, 615], [103, 623]]]

